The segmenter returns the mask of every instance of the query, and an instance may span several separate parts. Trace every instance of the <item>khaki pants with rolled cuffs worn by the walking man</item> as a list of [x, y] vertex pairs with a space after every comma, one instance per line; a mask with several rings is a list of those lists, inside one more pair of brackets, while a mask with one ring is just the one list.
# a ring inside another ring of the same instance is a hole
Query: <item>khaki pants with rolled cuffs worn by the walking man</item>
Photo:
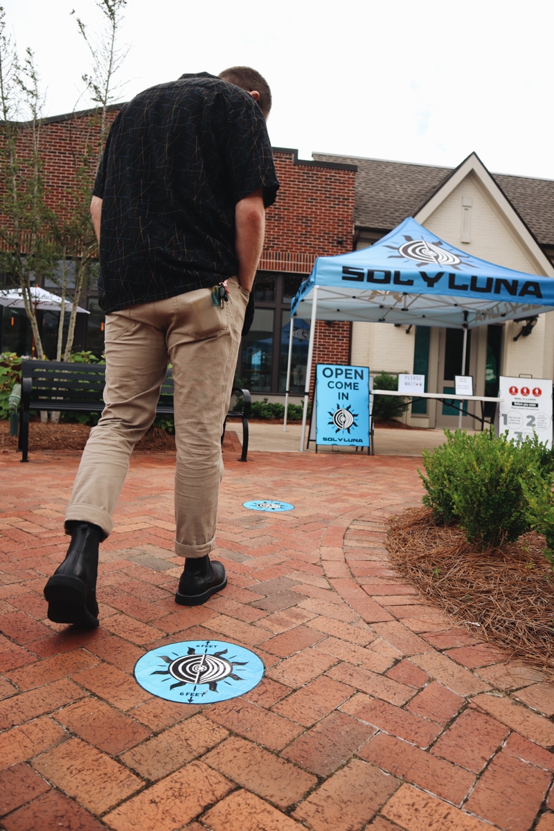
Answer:
[[229, 279], [228, 291], [233, 302], [223, 308], [214, 307], [210, 289], [201, 288], [106, 316], [105, 409], [83, 451], [66, 522], [90, 522], [110, 534], [130, 454], [154, 421], [170, 362], [177, 445], [175, 552], [194, 558], [212, 551], [223, 420], [248, 302], [236, 278]]

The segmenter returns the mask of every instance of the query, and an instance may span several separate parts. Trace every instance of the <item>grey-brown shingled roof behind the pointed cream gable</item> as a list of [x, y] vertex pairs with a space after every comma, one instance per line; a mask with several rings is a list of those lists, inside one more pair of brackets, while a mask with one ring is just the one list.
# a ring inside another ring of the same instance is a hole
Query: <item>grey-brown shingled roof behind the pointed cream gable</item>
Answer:
[[[388, 231], [417, 214], [455, 168], [314, 153], [318, 161], [357, 165], [354, 222]], [[491, 174], [540, 245], [554, 245], [554, 180]]]

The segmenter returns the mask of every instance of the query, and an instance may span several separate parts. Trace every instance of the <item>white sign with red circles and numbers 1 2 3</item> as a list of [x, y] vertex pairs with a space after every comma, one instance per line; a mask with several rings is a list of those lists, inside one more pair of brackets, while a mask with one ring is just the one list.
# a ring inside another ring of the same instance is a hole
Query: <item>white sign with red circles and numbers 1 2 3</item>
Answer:
[[543, 445], [552, 448], [552, 381], [544, 378], [500, 376], [498, 435], [523, 441], [534, 433]]

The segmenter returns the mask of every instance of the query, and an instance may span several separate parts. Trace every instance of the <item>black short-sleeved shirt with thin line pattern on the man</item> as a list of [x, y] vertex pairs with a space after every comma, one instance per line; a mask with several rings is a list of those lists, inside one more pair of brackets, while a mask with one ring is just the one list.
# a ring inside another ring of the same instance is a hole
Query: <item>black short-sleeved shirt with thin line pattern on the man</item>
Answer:
[[111, 126], [100, 197], [104, 312], [211, 288], [238, 271], [235, 205], [279, 183], [265, 119], [238, 86], [202, 72], [153, 86]]

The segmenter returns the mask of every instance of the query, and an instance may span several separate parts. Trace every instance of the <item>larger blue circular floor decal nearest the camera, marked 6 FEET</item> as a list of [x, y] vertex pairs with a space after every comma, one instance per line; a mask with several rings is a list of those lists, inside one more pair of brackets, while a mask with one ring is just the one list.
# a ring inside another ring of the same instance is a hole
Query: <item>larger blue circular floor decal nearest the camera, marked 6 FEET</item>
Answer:
[[262, 675], [257, 655], [223, 641], [169, 643], [146, 652], [135, 664], [135, 678], [146, 691], [186, 704], [242, 696]]

